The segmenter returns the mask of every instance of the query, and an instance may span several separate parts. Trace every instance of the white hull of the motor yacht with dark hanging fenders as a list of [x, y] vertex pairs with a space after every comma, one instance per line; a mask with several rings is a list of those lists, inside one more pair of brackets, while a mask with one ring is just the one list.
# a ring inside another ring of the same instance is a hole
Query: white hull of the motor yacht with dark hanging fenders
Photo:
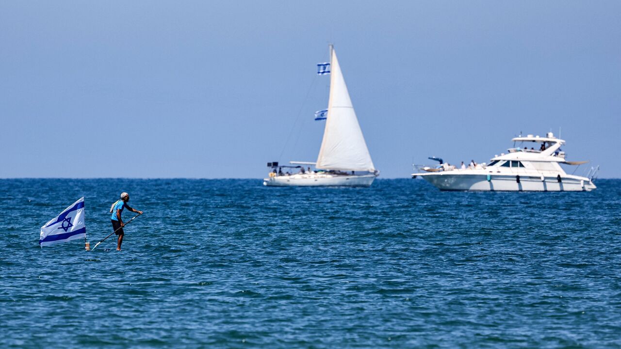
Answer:
[[[419, 174], [420, 175], [420, 174]], [[520, 182], [514, 175], [492, 174], [487, 180], [487, 174], [453, 174], [433, 173], [424, 174], [426, 181], [440, 190], [446, 191], [591, 191], [596, 189], [595, 184], [588, 178], [579, 176], [561, 176], [559, 182], [556, 176], [522, 176]]]

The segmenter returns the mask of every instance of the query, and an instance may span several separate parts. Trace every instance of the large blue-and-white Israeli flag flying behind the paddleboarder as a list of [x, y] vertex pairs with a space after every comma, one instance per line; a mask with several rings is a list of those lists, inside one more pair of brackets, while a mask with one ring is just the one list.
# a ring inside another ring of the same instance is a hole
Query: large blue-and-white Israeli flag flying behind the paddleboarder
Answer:
[[67, 207], [57, 217], [41, 227], [39, 245], [41, 247], [67, 242], [76, 238], [86, 239], [84, 225], [84, 197]]

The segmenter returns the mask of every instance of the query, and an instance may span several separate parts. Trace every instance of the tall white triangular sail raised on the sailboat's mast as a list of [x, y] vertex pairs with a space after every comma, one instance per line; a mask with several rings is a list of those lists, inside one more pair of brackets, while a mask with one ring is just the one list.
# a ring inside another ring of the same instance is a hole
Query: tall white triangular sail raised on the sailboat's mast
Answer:
[[324, 170], [373, 172], [375, 166], [351, 105], [337, 54], [333, 49], [331, 51], [328, 116], [315, 167]]

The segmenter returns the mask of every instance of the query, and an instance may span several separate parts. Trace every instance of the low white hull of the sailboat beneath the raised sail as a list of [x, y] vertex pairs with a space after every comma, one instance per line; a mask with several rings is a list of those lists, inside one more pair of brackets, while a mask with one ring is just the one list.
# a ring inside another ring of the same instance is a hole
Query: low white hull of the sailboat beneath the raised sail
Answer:
[[375, 179], [375, 174], [292, 174], [291, 176], [275, 176], [263, 179], [264, 186], [348, 186], [369, 187]]

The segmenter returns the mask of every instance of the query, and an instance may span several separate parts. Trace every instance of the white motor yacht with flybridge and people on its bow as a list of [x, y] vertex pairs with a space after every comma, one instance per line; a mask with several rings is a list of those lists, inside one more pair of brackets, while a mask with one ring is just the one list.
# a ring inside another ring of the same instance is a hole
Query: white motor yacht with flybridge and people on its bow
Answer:
[[[440, 165], [417, 166], [421, 176], [440, 190], [446, 191], [591, 191], [599, 171], [591, 168], [586, 177], [567, 174], [561, 164], [582, 165], [588, 161], [567, 161], [561, 145], [565, 141], [549, 132], [546, 137], [527, 135], [515, 137], [509, 153], [494, 155], [489, 164], [471, 163], [456, 168], [437, 160]], [[516, 147], [517, 143], [517, 147]], [[532, 146], [528, 148], [528, 146]]]

